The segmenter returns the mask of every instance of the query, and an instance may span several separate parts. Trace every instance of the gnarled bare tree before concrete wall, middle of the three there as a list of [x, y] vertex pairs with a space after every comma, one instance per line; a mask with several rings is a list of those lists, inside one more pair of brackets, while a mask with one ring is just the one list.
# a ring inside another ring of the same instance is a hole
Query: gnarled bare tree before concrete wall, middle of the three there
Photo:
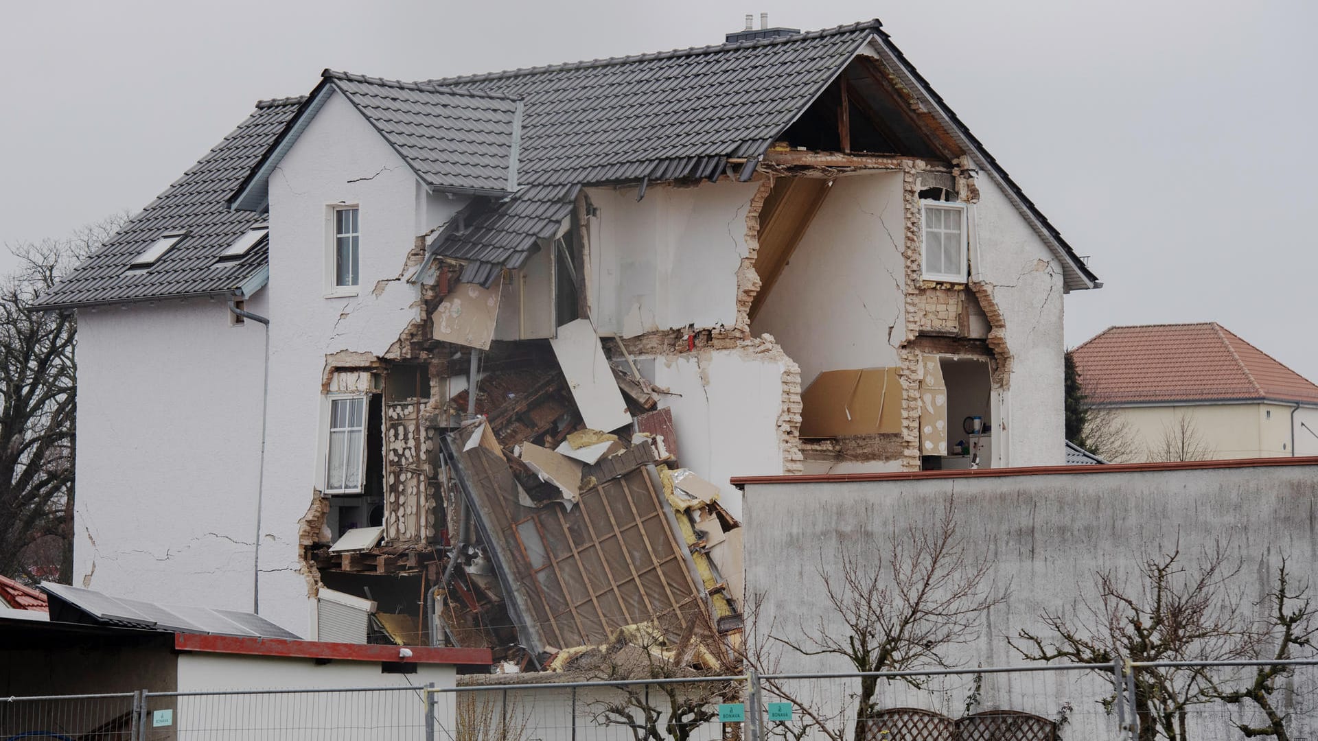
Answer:
[[[1180, 548], [1145, 558], [1133, 584], [1108, 570], [1095, 575], [1097, 601], [1085, 596], [1074, 614], [1044, 613], [1049, 634], [1020, 630], [1011, 646], [1033, 661], [1111, 663], [1232, 659], [1255, 645], [1242, 599], [1230, 588], [1240, 562], [1217, 543], [1193, 568]], [[1202, 667], [1140, 667], [1135, 671], [1140, 738], [1157, 734], [1185, 741], [1188, 708], [1210, 703], [1214, 691]]]

